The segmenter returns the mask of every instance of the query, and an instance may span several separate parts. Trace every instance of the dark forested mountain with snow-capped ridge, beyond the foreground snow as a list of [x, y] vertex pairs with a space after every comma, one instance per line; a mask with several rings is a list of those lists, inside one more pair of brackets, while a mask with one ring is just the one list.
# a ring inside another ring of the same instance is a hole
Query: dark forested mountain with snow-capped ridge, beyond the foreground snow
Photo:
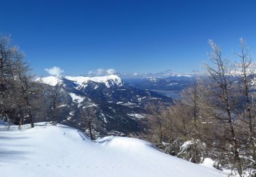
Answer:
[[[48, 76], [38, 78], [45, 84], [48, 97], [53, 88], [59, 89], [63, 112], [59, 122], [73, 127], [83, 128], [81, 112], [89, 106], [95, 110], [100, 123], [98, 132], [102, 135], [119, 135], [137, 133], [143, 130], [143, 119], [146, 106], [154, 101], [162, 100], [171, 103], [172, 99], [153, 91], [146, 91], [129, 86], [119, 76], [71, 77]], [[46, 99], [46, 101], [48, 101]]]

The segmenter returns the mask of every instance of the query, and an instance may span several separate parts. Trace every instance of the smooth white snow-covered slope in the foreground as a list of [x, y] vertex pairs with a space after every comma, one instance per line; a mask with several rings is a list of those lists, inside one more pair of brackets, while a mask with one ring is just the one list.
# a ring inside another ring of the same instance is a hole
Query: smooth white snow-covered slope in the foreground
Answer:
[[92, 142], [77, 129], [46, 123], [21, 131], [16, 126], [10, 131], [0, 129], [2, 177], [224, 176], [218, 170], [166, 155], [149, 142], [134, 138], [111, 136]]

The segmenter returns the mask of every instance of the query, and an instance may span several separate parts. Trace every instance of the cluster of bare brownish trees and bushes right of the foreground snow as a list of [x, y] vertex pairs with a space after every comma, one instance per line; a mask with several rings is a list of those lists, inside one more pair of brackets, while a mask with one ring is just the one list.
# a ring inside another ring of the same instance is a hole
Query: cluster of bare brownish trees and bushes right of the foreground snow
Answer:
[[173, 106], [150, 106], [146, 137], [170, 155], [194, 163], [211, 158], [219, 170], [255, 176], [256, 71], [251, 50], [240, 39], [232, 61], [212, 40], [209, 44], [205, 74]]

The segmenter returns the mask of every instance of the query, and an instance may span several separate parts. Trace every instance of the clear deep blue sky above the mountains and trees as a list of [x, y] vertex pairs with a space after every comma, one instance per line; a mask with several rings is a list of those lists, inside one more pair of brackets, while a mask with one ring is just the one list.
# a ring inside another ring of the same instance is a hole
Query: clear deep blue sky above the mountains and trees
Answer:
[[208, 39], [233, 57], [240, 37], [256, 48], [255, 1], [1, 1], [11, 34], [35, 74], [200, 70]]

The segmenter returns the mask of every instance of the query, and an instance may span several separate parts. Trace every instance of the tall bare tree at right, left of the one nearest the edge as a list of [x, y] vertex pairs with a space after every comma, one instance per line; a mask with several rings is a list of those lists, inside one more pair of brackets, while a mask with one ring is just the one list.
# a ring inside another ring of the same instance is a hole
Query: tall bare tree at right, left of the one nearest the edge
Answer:
[[221, 120], [221, 123], [223, 123], [224, 127], [227, 129], [227, 135], [229, 135], [229, 137], [227, 137], [226, 140], [231, 143], [233, 161], [238, 170], [238, 174], [242, 176], [242, 162], [239, 154], [240, 146], [236, 134], [235, 117], [232, 114], [236, 103], [234, 103], [235, 86], [231, 79], [231, 66], [227, 59], [223, 59], [221, 48], [216, 46], [212, 40], [209, 40], [209, 44], [212, 49], [210, 59], [213, 66], [205, 65], [205, 67], [210, 79], [210, 82], [208, 82], [208, 88], [211, 93], [210, 101], [216, 111], [221, 111], [226, 114], [225, 116], [220, 112], [216, 118]]

